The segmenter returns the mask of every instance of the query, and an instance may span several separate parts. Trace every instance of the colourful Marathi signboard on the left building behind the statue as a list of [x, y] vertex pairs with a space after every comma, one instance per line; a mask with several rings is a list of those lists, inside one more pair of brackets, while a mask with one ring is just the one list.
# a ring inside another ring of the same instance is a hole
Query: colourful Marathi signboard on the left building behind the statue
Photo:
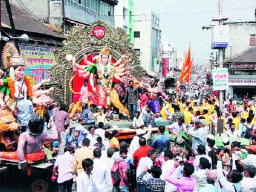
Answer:
[[24, 55], [25, 74], [32, 76], [37, 83], [42, 79], [51, 78], [48, 68], [57, 64], [54, 56], [55, 47], [19, 45], [19, 48]]

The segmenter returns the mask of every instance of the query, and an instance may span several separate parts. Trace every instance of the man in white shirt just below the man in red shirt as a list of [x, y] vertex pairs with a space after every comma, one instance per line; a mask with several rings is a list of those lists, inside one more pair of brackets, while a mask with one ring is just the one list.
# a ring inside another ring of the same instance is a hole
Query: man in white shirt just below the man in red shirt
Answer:
[[[153, 166], [153, 162], [155, 162], [155, 159], [157, 158], [157, 151], [155, 149], [152, 149], [151, 151], [148, 152], [147, 157], [142, 157], [140, 159], [140, 163], [138, 165], [137, 171], [136, 171], [136, 176], [140, 176], [141, 172], [144, 170], [145, 167], [151, 169], [151, 166]], [[143, 180], [148, 180], [151, 179], [152, 176], [149, 172], [146, 172], [143, 176]], [[137, 190], [138, 191], [143, 191], [146, 187], [143, 185], [139, 185], [137, 183]]]

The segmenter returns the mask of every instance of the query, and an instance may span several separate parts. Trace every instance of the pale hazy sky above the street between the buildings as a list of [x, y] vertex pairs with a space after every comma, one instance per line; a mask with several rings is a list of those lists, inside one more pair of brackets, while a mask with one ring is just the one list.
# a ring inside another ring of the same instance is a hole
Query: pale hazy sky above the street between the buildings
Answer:
[[[160, 29], [172, 46], [187, 52], [191, 44], [194, 64], [210, 59], [211, 30], [202, 26], [218, 24], [218, 0], [133, 0], [135, 10], [152, 10], [160, 17]], [[223, 14], [232, 21], [255, 21], [256, 0], [222, 0]]]

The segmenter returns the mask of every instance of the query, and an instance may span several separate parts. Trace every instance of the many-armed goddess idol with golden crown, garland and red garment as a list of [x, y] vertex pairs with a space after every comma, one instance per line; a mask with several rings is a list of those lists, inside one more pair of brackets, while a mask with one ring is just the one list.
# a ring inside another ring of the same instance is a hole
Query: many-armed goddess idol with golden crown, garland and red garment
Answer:
[[123, 81], [123, 76], [130, 75], [130, 68], [127, 66], [129, 57], [123, 55], [115, 63], [112, 63], [112, 57], [108, 47], [105, 46], [99, 53], [96, 63], [93, 63], [88, 61], [84, 47], [82, 47], [82, 52], [86, 65], [79, 65], [73, 62], [74, 71], [77, 71], [80, 77], [88, 79], [92, 90], [89, 93], [89, 97], [93, 101], [93, 104], [108, 107], [111, 103], [120, 110], [124, 110], [124, 106], [119, 102], [119, 98], [116, 98], [118, 94], [114, 94], [116, 92], [113, 90], [113, 84]]

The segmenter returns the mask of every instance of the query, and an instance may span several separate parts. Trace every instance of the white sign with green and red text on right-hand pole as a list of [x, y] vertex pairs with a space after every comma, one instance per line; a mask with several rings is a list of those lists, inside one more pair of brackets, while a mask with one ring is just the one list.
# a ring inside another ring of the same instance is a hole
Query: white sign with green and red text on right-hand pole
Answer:
[[227, 68], [213, 69], [213, 90], [227, 90], [229, 88]]

